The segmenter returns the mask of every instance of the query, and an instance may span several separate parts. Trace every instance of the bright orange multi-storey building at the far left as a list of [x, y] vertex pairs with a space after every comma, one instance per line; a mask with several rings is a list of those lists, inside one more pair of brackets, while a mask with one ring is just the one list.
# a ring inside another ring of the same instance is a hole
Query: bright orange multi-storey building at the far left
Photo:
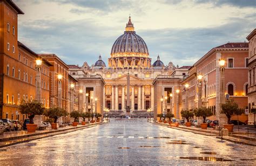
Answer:
[[[38, 55], [18, 42], [18, 15], [24, 13], [12, 1], [0, 1], [0, 119], [24, 120], [19, 112], [22, 99], [36, 98], [36, 59]], [[41, 102], [49, 107], [49, 69], [43, 59]]]

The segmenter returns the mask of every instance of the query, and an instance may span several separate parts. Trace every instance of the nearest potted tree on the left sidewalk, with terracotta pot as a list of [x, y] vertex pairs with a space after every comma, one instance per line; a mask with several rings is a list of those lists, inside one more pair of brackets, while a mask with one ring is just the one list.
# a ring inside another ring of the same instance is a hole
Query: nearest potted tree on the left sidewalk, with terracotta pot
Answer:
[[45, 108], [43, 104], [40, 102], [32, 101], [32, 102], [25, 102], [22, 100], [21, 104], [19, 105], [19, 110], [21, 110], [22, 114], [29, 115], [29, 124], [26, 124], [28, 132], [35, 132], [37, 125], [34, 124], [33, 118], [35, 115], [42, 115]]

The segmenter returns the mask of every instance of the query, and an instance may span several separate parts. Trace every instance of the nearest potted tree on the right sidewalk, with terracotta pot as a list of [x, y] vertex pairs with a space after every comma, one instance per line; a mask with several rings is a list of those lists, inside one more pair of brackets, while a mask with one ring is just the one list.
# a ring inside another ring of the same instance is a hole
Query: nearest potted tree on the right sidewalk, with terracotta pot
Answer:
[[226, 100], [225, 104], [221, 104], [222, 111], [227, 116], [227, 124], [224, 124], [224, 128], [228, 129], [228, 132], [233, 132], [234, 124], [231, 124], [231, 116], [240, 115], [244, 112], [242, 109], [239, 109], [238, 104], [234, 102], [234, 99]]

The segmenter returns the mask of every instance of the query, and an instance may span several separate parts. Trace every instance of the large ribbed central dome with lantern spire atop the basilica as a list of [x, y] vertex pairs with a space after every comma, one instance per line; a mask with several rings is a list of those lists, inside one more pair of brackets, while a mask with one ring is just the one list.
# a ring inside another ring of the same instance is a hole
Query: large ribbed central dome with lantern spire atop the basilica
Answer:
[[134, 31], [131, 17], [129, 17], [129, 21], [126, 24], [124, 34], [120, 35], [120, 37], [114, 42], [111, 49], [111, 56], [149, 56], [149, 50], [147, 49], [145, 41]]

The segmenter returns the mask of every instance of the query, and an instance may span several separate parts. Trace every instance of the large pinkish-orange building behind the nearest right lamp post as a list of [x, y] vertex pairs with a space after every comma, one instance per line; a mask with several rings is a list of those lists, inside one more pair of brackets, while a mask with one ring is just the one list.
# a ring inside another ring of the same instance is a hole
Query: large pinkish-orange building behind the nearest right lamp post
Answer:
[[[224, 92], [220, 96], [220, 65], [219, 59], [225, 60], [224, 70]], [[248, 43], [228, 42], [227, 44], [214, 47], [206, 53], [200, 60], [194, 63], [189, 69], [189, 77], [183, 81], [183, 107], [182, 109], [194, 109], [198, 107], [199, 80], [201, 78], [201, 105], [210, 107], [213, 116], [210, 119], [218, 120], [220, 103], [225, 103], [225, 94], [229, 94], [238, 103], [241, 109], [247, 108], [247, 63], [248, 63]], [[185, 84], [188, 90], [185, 92]], [[186, 95], [187, 102], [186, 105]], [[221, 99], [222, 98], [222, 99]], [[194, 99], [194, 103], [193, 103]], [[237, 119], [237, 116], [232, 117]], [[242, 114], [239, 120], [247, 120], [247, 116]]]

